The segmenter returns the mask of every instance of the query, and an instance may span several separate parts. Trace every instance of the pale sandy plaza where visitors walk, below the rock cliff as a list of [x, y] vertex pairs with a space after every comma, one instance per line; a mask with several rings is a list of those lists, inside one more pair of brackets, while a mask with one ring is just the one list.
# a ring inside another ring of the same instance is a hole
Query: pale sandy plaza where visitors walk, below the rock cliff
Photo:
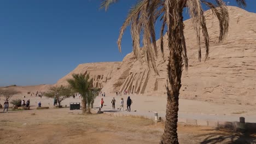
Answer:
[[[31, 91], [45, 91], [47, 88], [45, 85], [40, 86], [28, 86], [28, 87], [15, 87], [18, 91], [22, 91], [23, 94], [14, 95], [12, 99], [24, 99], [31, 101], [31, 106], [37, 106], [39, 101], [42, 106], [53, 107], [53, 99], [46, 97], [36, 97], [35, 95], [29, 95], [26, 92]], [[38, 89], [38, 90], [37, 90]], [[24, 98], [25, 96], [25, 98]], [[107, 94], [106, 97], [97, 97], [95, 100], [95, 107], [100, 105], [100, 99], [103, 98], [105, 103], [103, 110], [112, 110], [111, 100], [114, 97], [117, 100], [117, 107], [120, 103], [120, 98], [124, 98], [126, 101], [129, 95], [117, 96], [115, 94]], [[3, 97], [0, 97], [0, 103], [3, 105]], [[141, 116], [154, 116], [154, 112], [158, 112], [159, 116], [165, 118], [166, 111], [166, 97], [153, 97], [153, 96], [136, 96], [132, 95], [131, 99], [133, 104], [131, 109], [136, 112], [132, 112], [134, 115]], [[68, 98], [62, 101], [63, 106], [69, 106], [71, 102], [80, 102], [79, 97]], [[125, 105], [126, 107], [126, 105]], [[239, 117], [245, 117], [246, 122], [256, 123], [256, 107], [252, 105], [232, 105], [232, 104], [216, 104], [210, 101], [197, 101], [197, 100], [179, 100], [179, 118], [189, 119], [206, 119], [216, 121], [239, 121]]]

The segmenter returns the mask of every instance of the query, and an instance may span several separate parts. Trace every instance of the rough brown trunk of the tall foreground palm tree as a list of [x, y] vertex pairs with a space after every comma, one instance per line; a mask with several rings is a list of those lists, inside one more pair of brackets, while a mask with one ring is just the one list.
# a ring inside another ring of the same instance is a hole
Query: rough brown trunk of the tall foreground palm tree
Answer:
[[[177, 2], [176, 0], [173, 3]], [[182, 7], [182, 8], [181, 8]], [[170, 13], [174, 16], [170, 17], [170, 25], [168, 28], [168, 47], [170, 48], [170, 56], [168, 57], [167, 73], [168, 85], [167, 89], [167, 105], [166, 105], [166, 122], [164, 134], [161, 137], [161, 144], [178, 144], [177, 122], [179, 110], [179, 89], [181, 88], [181, 76], [183, 68], [182, 51], [185, 46], [183, 33], [183, 16], [182, 6], [173, 4], [170, 10], [176, 10], [176, 13]], [[170, 12], [171, 12], [170, 11]]]

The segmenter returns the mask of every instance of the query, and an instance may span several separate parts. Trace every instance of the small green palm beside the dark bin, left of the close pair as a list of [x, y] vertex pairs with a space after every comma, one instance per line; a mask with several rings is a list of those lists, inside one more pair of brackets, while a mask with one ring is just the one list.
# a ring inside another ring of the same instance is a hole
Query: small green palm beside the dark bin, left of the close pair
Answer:
[[90, 113], [87, 109], [88, 92], [92, 87], [92, 79], [90, 80], [89, 74], [73, 74], [73, 79], [68, 79], [69, 86], [74, 92], [80, 93], [82, 97], [83, 113]]

